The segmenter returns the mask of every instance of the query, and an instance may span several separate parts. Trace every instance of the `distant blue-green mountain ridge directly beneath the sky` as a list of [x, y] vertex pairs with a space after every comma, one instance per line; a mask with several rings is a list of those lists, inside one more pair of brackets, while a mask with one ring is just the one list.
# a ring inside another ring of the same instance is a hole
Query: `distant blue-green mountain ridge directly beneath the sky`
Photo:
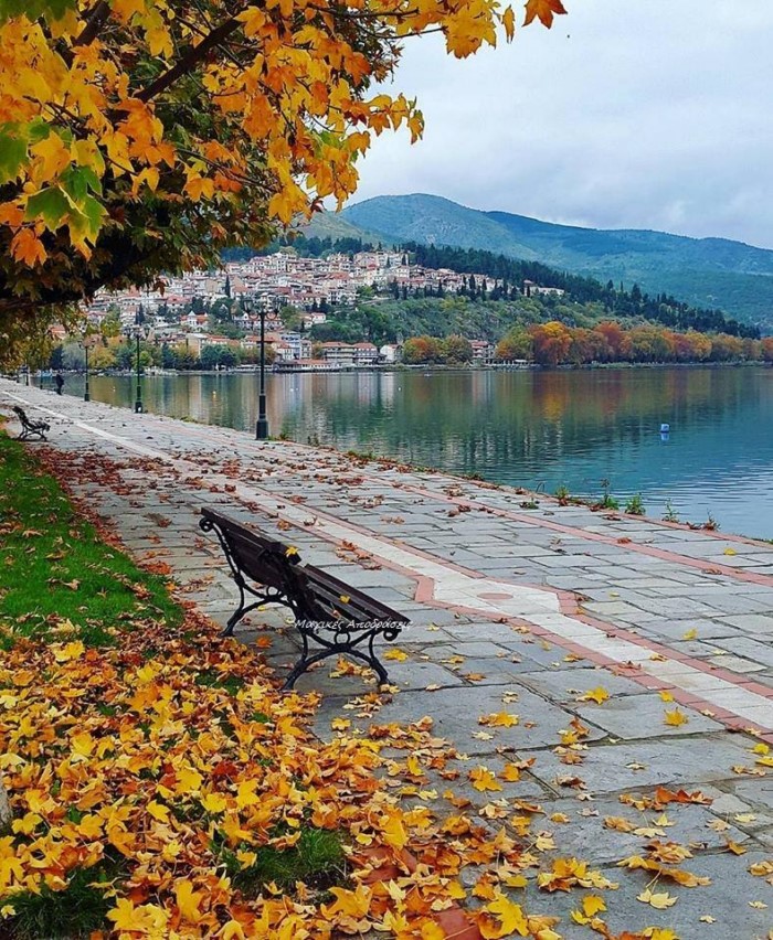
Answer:
[[354, 228], [371, 233], [368, 241], [483, 248], [612, 280], [615, 286], [622, 281], [628, 289], [638, 284], [649, 293], [719, 307], [744, 322], [773, 328], [773, 250], [741, 242], [554, 225], [508, 212], [480, 212], [422, 193], [366, 200], [345, 209], [338, 218], [350, 224], [351, 234]]

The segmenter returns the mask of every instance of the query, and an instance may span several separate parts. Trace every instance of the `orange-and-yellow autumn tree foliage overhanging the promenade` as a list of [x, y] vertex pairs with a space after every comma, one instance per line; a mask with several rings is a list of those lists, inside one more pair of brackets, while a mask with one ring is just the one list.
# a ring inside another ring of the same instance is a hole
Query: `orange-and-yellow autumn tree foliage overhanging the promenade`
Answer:
[[[561, 0], [528, 0], [550, 26]], [[0, 337], [99, 287], [216, 265], [356, 189], [405, 40], [515, 33], [498, 0], [0, 0]]]

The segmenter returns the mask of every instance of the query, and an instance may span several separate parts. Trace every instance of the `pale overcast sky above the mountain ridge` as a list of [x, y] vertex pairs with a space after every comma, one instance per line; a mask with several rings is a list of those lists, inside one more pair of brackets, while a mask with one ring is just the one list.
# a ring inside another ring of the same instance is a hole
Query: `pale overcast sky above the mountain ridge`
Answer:
[[378, 140], [353, 201], [426, 192], [773, 248], [773, 0], [564, 6], [467, 61], [410, 42], [392, 90], [419, 97], [424, 139]]

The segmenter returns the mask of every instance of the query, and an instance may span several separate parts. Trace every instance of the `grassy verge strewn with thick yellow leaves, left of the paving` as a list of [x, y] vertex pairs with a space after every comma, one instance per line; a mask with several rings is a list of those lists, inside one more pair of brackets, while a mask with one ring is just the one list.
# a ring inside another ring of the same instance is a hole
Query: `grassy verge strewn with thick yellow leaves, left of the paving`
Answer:
[[[511, 838], [462, 819], [440, 831], [380, 782], [390, 744], [432, 757], [426, 727], [320, 743], [315, 696], [280, 695], [255, 653], [105, 545], [4, 437], [0, 477], [11, 936], [300, 940], [375, 926], [436, 940], [465, 862], [517, 869]], [[487, 937], [554, 936], [499, 891], [489, 907]]]

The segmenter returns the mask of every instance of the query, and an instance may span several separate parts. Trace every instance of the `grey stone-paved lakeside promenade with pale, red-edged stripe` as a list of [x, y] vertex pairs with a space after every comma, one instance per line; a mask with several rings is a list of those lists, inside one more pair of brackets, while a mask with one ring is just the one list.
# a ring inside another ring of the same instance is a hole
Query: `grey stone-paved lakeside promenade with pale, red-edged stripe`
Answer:
[[[392, 694], [368, 696], [369, 675], [331, 677], [329, 662], [297, 685], [322, 695], [322, 737], [341, 719], [348, 734], [432, 719], [459, 752], [456, 804], [432, 772], [415, 786], [390, 780], [405, 799], [441, 816], [467, 799], [466, 812], [483, 810], [477, 821], [495, 831], [526, 826], [540, 870], [586, 861], [620, 885], [604, 891], [613, 933], [773, 936], [773, 546], [542, 496], [533, 509], [508, 488], [0, 380], [11, 432], [15, 404], [51, 423], [40, 446], [59, 453], [74, 493], [140, 560], [169, 565], [215, 620], [236, 591], [198, 530], [204, 504], [276, 533], [411, 618], [394, 651], [382, 648]], [[257, 639], [282, 679], [295, 655], [282, 611], [255, 612], [237, 635]], [[479, 723], [500, 713], [518, 723]], [[502, 779], [507, 762], [518, 779]], [[501, 789], [476, 788], [478, 767]], [[659, 786], [707, 800], [653, 802]], [[650, 884], [652, 872], [616, 865], [658, 852], [684, 859], [671, 843], [691, 853], [679, 867], [710, 885]], [[637, 900], [648, 884], [678, 901]], [[562, 937], [599, 936], [570, 919], [576, 893], [546, 894], [531, 877], [511, 890], [529, 912], [561, 915]]]

